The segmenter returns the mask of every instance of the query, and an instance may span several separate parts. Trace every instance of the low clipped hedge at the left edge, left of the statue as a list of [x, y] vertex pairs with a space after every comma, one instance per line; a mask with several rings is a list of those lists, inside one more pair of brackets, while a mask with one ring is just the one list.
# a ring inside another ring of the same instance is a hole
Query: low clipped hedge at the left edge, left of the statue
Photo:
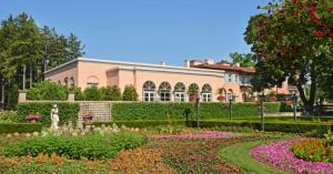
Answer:
[[0, 134], [41, 132], [42, 126], [39, 123], [0, 123]]

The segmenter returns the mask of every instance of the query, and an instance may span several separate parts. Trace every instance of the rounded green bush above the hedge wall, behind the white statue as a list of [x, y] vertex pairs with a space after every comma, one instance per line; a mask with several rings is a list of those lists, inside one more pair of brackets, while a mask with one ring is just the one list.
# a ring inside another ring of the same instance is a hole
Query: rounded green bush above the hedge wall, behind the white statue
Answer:
[[28, 90], [28, 100], [59, 100], [64, 101], [68, 96], [68, 88], [51, 81], [43, 81], [33, 84], [33, 88]]

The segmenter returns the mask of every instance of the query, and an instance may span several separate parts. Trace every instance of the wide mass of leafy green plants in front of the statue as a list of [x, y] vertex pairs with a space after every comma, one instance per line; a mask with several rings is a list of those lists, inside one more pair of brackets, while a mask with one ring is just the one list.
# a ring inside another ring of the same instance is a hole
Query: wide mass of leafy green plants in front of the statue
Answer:
[[133, 133], [89, 134], [83, 136], [37, 136], [9, 144], [6, 156], [38, 156], [38, 154], [63, 155], [69, 158], [105, 160], [122, 150], [133, 149], [145, 143], [145, 139]]

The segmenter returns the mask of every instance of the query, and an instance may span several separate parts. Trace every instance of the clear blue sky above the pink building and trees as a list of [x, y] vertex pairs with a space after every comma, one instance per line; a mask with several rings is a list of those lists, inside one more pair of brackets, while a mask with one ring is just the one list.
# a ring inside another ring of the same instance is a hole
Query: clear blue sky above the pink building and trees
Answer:
[[0, 0], [0, 19], [27, 12], [37, 23], [73, 32], [85, 57], [181, 65], [250, 52], [250, 16], [269, 0]]

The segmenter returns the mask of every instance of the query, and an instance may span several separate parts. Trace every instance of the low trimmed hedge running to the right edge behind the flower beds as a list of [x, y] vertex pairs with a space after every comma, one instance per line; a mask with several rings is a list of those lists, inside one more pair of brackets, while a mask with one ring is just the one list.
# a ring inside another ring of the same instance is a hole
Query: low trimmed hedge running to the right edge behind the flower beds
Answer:
[[[327, 131], [332, 123], [302, 123], [302, 122], [266, 122], [265, 131], [286, 132], [286, 133], [306, 133], [314, 130]], [[196, 122], [190, 122], [190, 126], [196, 126]], [[200, 121], [202, 127], [216, 126], [246, 126], [254, 130], [260, 130], [260, 122], [254, 121]]]

